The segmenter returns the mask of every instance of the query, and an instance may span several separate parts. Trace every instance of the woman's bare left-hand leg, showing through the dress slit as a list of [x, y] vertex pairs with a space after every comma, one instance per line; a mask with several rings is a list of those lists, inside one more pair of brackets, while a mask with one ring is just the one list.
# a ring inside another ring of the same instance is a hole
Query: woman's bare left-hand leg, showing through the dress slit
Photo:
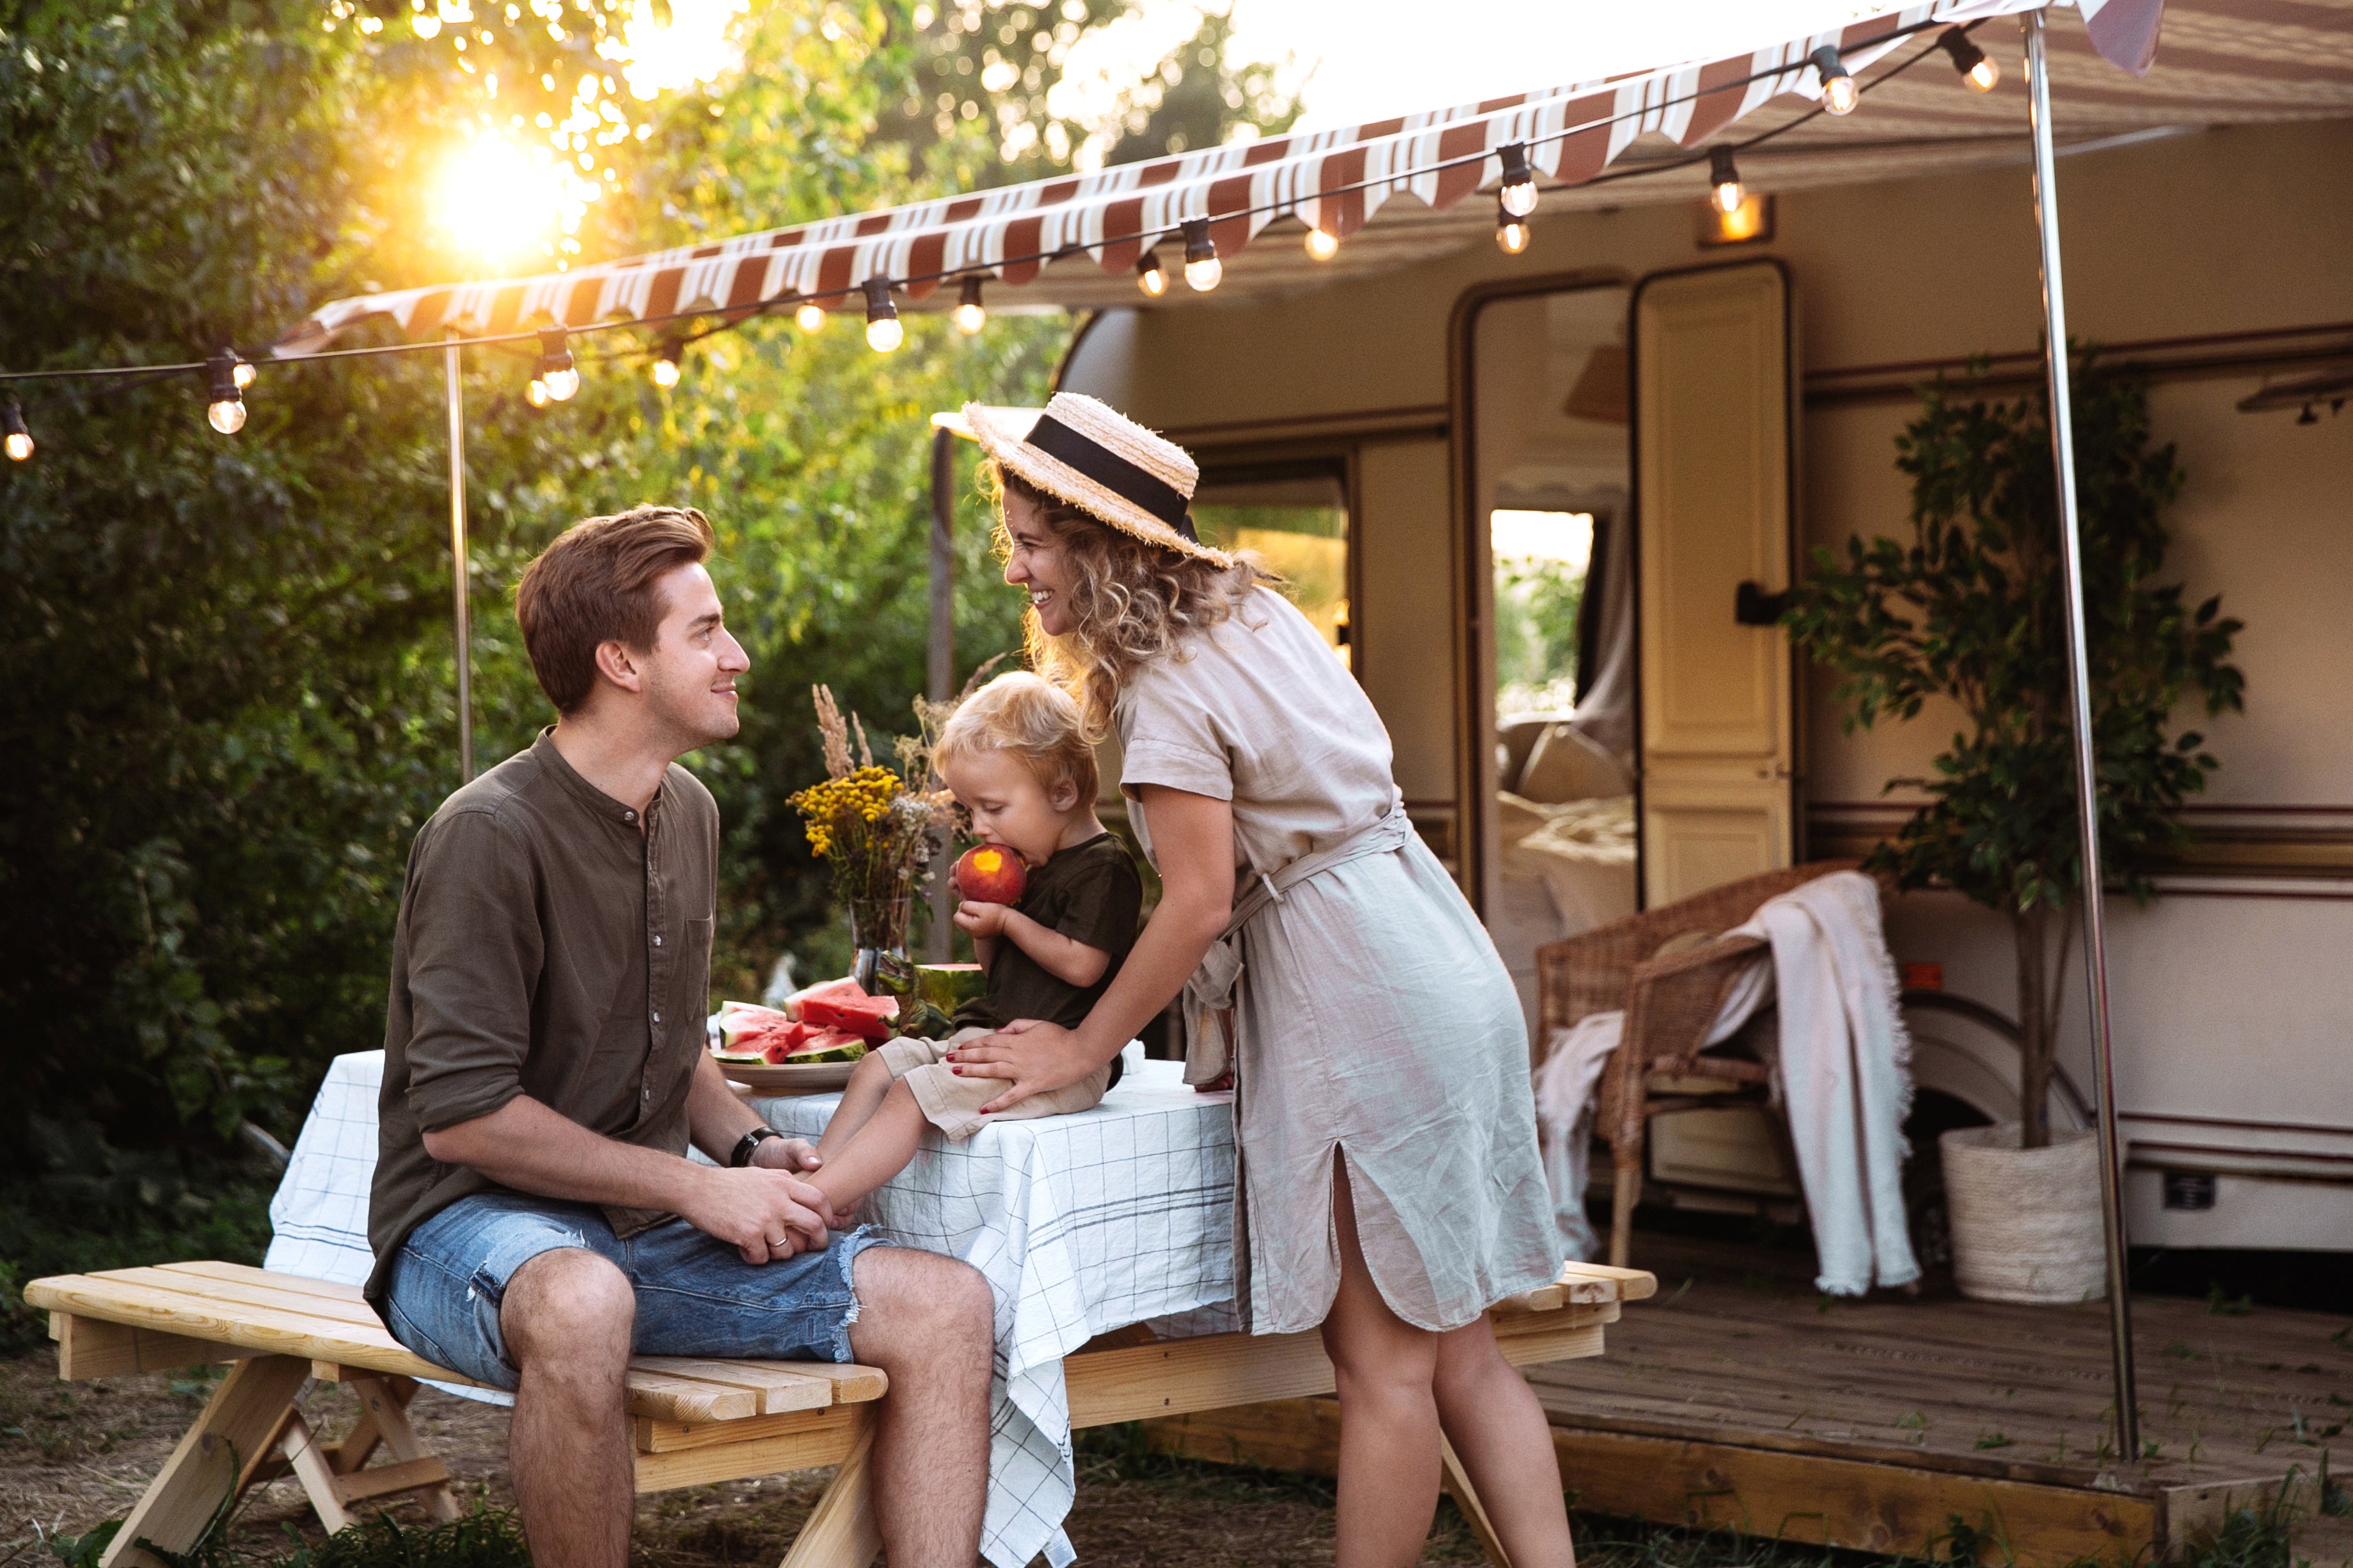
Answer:
[[1339, 1382], [1337, 1568], [1407, 1568], [1438, 1514], [1438, 1335], [1381, 1300], [1355, 1239], [1346, 1157], [1332, 1173], [1339, 1295], [1322, 1324]]

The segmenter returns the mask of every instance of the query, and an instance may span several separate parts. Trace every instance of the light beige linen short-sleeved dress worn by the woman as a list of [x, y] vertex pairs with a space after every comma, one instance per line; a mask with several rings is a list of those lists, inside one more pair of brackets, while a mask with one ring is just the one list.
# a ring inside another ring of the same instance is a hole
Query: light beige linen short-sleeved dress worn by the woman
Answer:
[[[1379, 715], [1271, 588], [1139, 670], [1118, 729], [1132, 799], [1167, 785], [1233, 802], [1238, 893], [1398, 799]], [[1134, 818], [1153, 853], [1141, 802]], [[1562, 1251], [1520, 1001], [1428, 846], [1405, 835], [1292, 886], [1240, 943], [1235, 1251], [1252, 1333], [1313, 1328], [1332, 1309], [1334, 1152], [1365, 1262], [1407, 1324], [1461, 1328], [1551, 1284]]]

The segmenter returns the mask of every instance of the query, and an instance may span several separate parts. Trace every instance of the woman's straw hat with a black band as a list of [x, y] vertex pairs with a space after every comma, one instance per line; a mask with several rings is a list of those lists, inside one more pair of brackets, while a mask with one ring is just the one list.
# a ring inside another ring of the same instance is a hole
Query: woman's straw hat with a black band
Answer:
[[1186, 508], [1200, 468], [1186, 449], [1108, 402], [1085, 393], [1054, 393], [1042, 409], [967, 402], [962, 414], [934, 414], [932, 423], [969, 435], [1007, 473], [1122, 534], [1233, 567], [1193, 531]]

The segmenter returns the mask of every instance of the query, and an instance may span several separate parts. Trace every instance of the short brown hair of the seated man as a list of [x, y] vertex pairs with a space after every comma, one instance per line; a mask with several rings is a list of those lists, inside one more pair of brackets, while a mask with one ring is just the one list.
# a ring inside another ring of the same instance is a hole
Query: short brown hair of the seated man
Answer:
[[708, 557], [713, 538], [692, 505], [633, 505], [574, 522], [522, 569], [515, 621], [555, 712], [579, 710], [595, 691], [598, 644], [652, 651], [661, 630], [654, 581]]

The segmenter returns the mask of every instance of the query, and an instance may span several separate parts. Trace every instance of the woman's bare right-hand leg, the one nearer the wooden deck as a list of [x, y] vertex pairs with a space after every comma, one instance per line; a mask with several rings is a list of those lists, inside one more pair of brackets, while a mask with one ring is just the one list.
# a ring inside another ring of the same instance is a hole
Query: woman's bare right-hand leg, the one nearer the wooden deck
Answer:
[[1577, 1568], [1553, 1427], [1485, 1314], [1438, 1335], [1438, 1420], [1513, 1568]]

